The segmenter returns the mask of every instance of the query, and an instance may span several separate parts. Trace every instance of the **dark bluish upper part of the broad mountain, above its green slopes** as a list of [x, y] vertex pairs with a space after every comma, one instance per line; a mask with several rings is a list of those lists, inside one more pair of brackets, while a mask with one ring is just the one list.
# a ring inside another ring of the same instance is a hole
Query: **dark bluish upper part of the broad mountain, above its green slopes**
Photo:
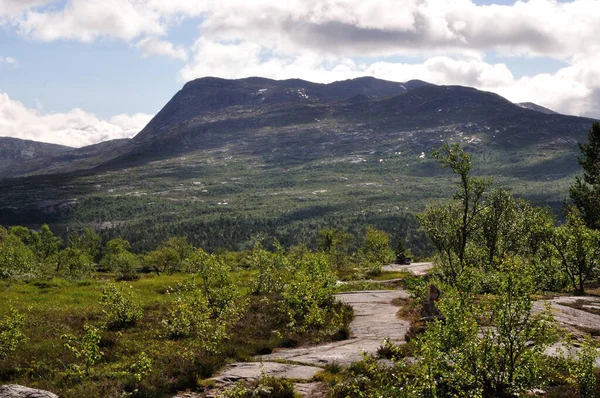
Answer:
[[[420, 129], [463, 134], [498, 130], [502, 134], [488, 138], [508, 148], [540, 140], [572, 141], [590, 123], [542, 114], [470, 87], [421, 81], [361, 78], [315, 84], [202, 78], [187, 83], [132, 139], [130, 151], [112, 163], [228, 145], [270, 162], [303, 162], [364, 150], [365, 141], [378, 150], [394, 136]], [[430, 147], [431, 137], [420, 134], [416, 143]], [[323, 147], [325, 143], [330, 144]], [[277, 151], [268, 150], [273, 147]]]

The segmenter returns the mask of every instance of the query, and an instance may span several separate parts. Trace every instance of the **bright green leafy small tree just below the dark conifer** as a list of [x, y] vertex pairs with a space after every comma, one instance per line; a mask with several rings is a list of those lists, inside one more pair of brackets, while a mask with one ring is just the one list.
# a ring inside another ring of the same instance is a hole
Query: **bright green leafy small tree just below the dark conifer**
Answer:
[[579, 210], [570, 207], [565, 225], [554, 230], [551, 243], [573, 290], [583, 294], [584, 283], [594, 276], [600, 264], [600, 231], [588, 228]]

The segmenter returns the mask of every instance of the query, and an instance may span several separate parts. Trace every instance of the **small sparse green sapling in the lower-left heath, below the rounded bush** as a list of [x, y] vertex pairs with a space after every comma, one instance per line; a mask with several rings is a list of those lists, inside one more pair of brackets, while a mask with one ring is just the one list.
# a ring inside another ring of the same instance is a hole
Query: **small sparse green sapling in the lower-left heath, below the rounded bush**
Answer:
[[[92, 366], [104, 356], [104, 352], [100, 350], [102, 329], [85, 324], [83, 326], [82, 336], [77, 337], [72, 334], [65, 334], [61, 336], [61, 339], [63, 340], [65, 348], [75, 354], [75, 357], [83, 362], [83, 372], [85, 372], [86, 376], [89, 376]], [[80, 365], [74, 365], [73, 369], [79, 374], [82, 373]]]

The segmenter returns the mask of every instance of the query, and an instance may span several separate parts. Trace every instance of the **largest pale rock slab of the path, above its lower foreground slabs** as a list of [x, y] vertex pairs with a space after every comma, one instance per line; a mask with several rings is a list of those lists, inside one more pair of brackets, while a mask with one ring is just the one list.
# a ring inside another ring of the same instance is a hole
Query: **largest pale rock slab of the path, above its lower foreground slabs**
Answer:
[[396, 298], [408, 298], [405, 291], [349, 292], [338, 294], [337, 297], [354, 308], [350, 339], [313, 347], [281, 349], [260, 359], [287, 360], [318, 366], [331, 363], [350, 365], [361, 360], [362, 351], [375, 353], [386, 337], [396, 342], [404, 340], [410, 323], [396, 317], [398, 307], [392, 301]]

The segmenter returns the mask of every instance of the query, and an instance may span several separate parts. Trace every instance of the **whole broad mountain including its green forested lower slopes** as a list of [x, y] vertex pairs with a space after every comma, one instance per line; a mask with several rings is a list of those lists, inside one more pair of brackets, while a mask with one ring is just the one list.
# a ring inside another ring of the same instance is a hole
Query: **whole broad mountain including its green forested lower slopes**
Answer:
[[21, 177], [0, 180], [0, 223], [90, 226], [137, 250], [168, 236], [206, 249], [256, 236], [314, 245], [321, 228], [374, 225], [426, 251], [414, 213], [454, 189], [429, 156], [442, 142], [558, 213], [591, 124], [416, 80], [202, 78], [131, 140], [13, 163]]

